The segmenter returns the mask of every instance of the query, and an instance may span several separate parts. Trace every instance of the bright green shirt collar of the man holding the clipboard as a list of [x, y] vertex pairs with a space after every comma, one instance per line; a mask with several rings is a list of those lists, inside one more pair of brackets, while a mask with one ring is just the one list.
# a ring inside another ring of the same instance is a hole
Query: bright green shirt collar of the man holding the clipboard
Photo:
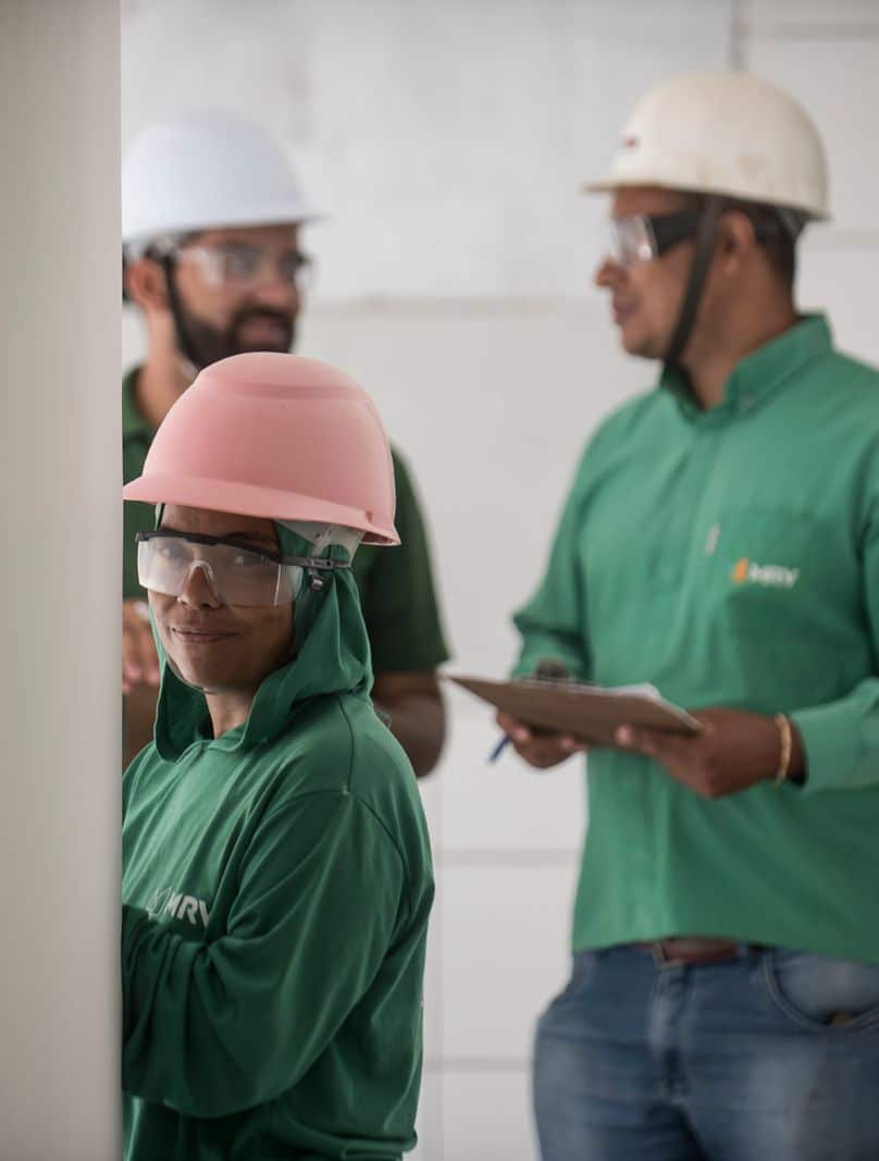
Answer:
[[802, 315], [788, 331], [752, 351], [736, 365], [727, 380], [723, 403], [719, 408], [709, 412], [701, 411], [693, 401], [686, 380], [677, 369], [664, 369], [660, 376], [660, 387], [677, 398], [680, 410], [689, 419], [747, 411], [806, 363], [827, 354], [831, 346], [833, 337], [827, 318], [823, 315]]

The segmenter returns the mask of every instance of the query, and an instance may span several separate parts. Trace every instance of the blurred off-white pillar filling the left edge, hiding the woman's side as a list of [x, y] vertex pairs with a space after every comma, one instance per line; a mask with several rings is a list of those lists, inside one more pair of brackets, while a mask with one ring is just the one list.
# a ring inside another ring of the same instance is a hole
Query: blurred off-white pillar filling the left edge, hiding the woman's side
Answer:
[[0, 0], [0, 1158], [117, 1161], [118, 0]]

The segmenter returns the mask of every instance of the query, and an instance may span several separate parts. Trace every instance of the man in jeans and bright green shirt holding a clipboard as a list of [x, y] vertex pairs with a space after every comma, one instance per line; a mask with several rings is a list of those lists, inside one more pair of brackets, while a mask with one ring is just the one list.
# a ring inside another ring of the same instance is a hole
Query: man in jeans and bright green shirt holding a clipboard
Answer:
[[[590, 440], [517, 677], [651, 683], [686, 735], [589, 756], [543, 1161], [879, 1158], [879, 375], [793, 302], [821, 142], [744, 73], [626, 125], [596, 281], [658, 388]], [[548, 769], [572, 733], [500, 727]]]

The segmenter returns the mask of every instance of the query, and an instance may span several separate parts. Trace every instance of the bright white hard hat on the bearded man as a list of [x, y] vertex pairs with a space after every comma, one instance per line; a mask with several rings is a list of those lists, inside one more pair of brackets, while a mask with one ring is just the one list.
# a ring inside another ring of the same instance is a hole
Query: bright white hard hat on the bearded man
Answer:
[[314, 218], [293, 166], [258, 125], [195, 114], [142, 130], [122, 166], [122, 241]]

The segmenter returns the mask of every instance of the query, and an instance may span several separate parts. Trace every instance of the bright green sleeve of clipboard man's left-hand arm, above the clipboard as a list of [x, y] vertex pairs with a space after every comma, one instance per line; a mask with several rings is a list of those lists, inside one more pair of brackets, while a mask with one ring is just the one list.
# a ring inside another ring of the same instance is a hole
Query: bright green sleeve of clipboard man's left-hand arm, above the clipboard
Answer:
[[583, 538], [583, 466], [562, 511], [549, 562], [536, 593], [513, 616], [523, 637], [513, 673], [533, 673], [542, 658], [561, 662], [579, 680], [589, 680], [586, 605], [579, 561]]

